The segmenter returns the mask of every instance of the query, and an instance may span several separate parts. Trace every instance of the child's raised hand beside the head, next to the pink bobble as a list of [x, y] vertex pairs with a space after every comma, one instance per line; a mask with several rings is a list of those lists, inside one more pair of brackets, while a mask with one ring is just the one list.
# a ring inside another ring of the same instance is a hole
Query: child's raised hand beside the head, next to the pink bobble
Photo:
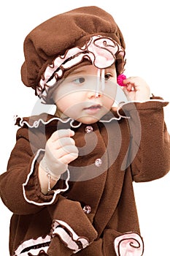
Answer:
[[131, 77], [123, 80], [123, 91], [129, 100], [146, 101], [150, 99], [150, 87], [139, 77]]

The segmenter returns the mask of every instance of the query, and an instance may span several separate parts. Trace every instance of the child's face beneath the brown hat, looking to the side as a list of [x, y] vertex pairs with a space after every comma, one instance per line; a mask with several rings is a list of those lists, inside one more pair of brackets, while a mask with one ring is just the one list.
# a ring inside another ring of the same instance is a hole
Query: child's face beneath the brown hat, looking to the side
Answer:
[[70, 117], [83, 124], [93, 124], [101, 119], [112, 108], [117, 89], [115, 65], [104, 72], [103, 85], [98, 78], [98, 69], [93, 65], [79, 67], [69, 74], [54, 91], [55, 115]]

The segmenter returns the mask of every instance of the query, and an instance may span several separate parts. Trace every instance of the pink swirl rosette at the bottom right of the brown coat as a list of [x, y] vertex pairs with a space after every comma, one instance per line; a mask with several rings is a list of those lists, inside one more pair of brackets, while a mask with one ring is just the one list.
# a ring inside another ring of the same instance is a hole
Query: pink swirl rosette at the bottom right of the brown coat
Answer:
[[144, 243], [137, 233], [125, 233], [115, 238], [115, 252], [117, 256], [142, 256]]

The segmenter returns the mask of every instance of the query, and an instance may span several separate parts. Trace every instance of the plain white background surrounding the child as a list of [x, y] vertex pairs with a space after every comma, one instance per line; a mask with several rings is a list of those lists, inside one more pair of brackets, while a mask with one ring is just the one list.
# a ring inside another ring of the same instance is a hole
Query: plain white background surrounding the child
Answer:
[[[20, 80], [23, 39], [28, 32], [60, 12], [76, 7], [97, 5], [113, 15], [123, 32], [127, 58], [125, 74], [141, 76], [150, 84], [153, 94], [169, 101], [170, 16], [168, 4], [169, 1], [166, 0], [1, 1], [0, 173], [6, 170], [10, 151], [15, 144], [17, 127], [13, 125], [13, 116], [16, 114], [29, 116], [36, 102], [34, 91], [23, 86]], [[165, 108], [165, 118], [170, 130], [169, 113], [168, 106]], [[168, 174], [157, 181], [134, 184], [141, 231], [145, 242], [144, 256], [170, 255], [169, 181]], [[11, 213], [1, 201], [0, 216], [0, 254], [8, 256]]]

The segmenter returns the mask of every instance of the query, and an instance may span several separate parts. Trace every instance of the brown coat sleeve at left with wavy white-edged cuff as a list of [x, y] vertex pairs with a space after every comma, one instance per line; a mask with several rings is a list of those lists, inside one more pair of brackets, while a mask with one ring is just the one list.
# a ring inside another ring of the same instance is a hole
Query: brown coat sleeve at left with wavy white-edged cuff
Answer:
[[18, 129], [7, 171], [0, 176], [1, 200], [14, 214], [35, 214], [58, 200], [60, 189], [44, 195], [39, 185], [38, 166], [46, 141], [40, 133], [28, 127]]

